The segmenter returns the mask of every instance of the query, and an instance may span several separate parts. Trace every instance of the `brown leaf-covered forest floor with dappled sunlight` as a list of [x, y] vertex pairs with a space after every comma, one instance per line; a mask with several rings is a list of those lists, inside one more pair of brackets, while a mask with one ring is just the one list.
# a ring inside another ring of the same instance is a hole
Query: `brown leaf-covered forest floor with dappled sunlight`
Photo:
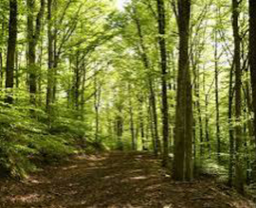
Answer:
[[81, 156], [49, 166], [25, 182], [0, 182], [0, 207], [252, 208], [213, 180], [173, 182], [148, 153]]

